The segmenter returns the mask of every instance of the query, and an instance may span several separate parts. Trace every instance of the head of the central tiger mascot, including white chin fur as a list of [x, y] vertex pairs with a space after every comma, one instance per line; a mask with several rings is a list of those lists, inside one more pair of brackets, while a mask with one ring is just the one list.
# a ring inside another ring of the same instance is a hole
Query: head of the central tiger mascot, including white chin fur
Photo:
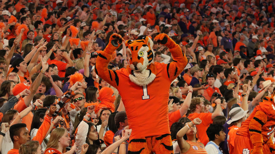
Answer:
[[129, 60], [128, 67], [131, 69], [130, 80], [140, 86], [151, 83], [156, 77], [153, 65], [154, 44], [151, 38], [146, 36], [142, 40], [127, 40], [125, 45]]

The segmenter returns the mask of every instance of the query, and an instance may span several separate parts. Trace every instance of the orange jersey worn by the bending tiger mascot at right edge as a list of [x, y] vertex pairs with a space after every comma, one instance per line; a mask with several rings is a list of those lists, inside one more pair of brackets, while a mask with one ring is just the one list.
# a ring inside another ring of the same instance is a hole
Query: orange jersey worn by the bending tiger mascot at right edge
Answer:
[[242, 123], [242, 126], [237, 131], [237, 134], [242, 136], [247, 136], [250, 138], [249, 123], [251, 119], [254, 118], [255, 113], [257, 111], [262, 111], [268, 116], [267, 122], [262, 126], [262, 132], [261, 132], [263, 142], [265, 143], [266, 141], [268, 141], [268, 139], [270, 138], [270, 135], [275, 130], [275, 114], [274, 114], [275, 104], [274, 102], [271, 102], [271, 101], [260, 102], [260, 105], [256, 106], [253, 112], [251, 113], [251, 115]]

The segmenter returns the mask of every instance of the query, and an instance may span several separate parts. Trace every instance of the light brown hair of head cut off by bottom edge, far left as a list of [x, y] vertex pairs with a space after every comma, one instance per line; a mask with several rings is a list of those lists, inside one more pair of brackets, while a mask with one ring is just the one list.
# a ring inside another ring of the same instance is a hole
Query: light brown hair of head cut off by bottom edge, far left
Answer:
[[35, 154], [38, 147], [39, 147], [38, 141], [29, 141], [20, 146], [19, 154]]

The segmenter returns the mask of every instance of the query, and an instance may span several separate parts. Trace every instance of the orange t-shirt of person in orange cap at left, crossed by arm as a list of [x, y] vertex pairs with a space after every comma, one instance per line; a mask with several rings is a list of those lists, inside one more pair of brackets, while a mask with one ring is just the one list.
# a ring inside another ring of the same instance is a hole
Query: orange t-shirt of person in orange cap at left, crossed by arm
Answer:
[[[16, 109], [19, 113], [22, 112], [24, 109], [26, 109], [28, 106], [26, 106], [24, 102], [24, 98], [21, 98], [20, 101], [14, 106], [13, 109]], [[22, 123], [27, 125], [28, 130], [31, 130], [31, 122], [32, 122], [33, 114], [30, 112], [26, 116], [22, 118]]]

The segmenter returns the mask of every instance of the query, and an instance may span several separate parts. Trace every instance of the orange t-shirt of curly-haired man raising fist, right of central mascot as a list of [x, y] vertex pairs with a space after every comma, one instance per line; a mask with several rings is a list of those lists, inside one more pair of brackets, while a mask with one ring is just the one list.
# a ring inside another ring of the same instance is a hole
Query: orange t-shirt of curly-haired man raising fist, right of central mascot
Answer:
[[202, 123], [196, 125], [198, 137], [204, 146], [209, 142], [209, 138], [206, 134], [206, 130], [210, 124], [212, 124], [212, 113], [191, 113], [188, 118], [192, 121], [195, 118], [200, 118]]

